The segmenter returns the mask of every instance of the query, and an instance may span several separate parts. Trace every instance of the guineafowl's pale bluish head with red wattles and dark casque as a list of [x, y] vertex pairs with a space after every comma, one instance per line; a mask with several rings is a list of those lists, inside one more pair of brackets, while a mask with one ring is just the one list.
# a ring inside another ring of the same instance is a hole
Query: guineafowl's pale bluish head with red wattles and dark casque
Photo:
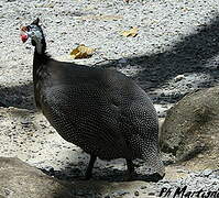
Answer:
[[36, 47], [36, 52], [39, 54], [42, 54], [46, 50], [46, 43], [45, 43], [43, 30], [39, 23], [40, 23], [40, 19], [37, 18], [30, 25], [22, 26], [21, 41], [25, 43], [30, 37], [32, 45]]

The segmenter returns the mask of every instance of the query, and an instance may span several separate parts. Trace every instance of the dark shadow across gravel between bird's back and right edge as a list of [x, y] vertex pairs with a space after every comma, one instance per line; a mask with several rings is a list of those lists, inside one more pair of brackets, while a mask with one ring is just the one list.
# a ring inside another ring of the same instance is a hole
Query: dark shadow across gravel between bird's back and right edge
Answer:
[[[209, 24], [197, 26], [193, 34], [186, 35], [176, 42], [171, 50], [135, 57], [128, 57], [127, 62], [118, 64], [118, 61], [109, 62], [101, 67], [114, 65], [118, 69], [139, 67], [139, 73], [132, 76], [134, 80], [151, 96], [155, 102], [165, 102], [165, 95], [158, 96], [157, 89], [168, 87], [169, 80], [178, 75], [208, 76], [198, 85], [188, 85], [187, 92], [212, 87], [219, 82], [219, 15], [216, 15]], [[119, 65], [119, 66], [118, 66]], [[176, 86], [173, 82], [172, 86]], [[190, 87], [191, 86], [191, 87]], [[197, 86], [197, 87], [196, 87]], [[193, 89], [194, 88], [194, 89]], [[155, 92], [155, 97], [154, 96]], [[177, 92], [171, 96], [174, 103], [185, 94]], [[167, 101], [169, 102], [169, 100]]]

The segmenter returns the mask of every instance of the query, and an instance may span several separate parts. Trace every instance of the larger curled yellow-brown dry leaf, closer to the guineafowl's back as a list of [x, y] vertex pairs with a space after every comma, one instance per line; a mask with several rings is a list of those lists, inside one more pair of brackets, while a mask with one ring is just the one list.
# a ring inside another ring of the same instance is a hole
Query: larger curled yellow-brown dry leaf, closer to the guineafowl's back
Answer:
[[90, 57], [94, 54], [94, 52], [95, 52], [94, 48], [87, 47], [84, 44], [81, 44], [81, 45], [78, 45], [76, 48], [74, 48], [70, 52], [70, 56], [74, 59], [88, 58], [88, 57]]

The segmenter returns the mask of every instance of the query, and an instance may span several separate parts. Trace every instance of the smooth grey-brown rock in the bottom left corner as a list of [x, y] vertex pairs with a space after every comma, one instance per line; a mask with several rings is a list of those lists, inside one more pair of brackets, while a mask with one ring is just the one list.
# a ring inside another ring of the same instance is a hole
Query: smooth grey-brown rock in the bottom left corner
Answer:
[[0, 157], [0, 197], [72, 197], [70, 186], [18, 158]]

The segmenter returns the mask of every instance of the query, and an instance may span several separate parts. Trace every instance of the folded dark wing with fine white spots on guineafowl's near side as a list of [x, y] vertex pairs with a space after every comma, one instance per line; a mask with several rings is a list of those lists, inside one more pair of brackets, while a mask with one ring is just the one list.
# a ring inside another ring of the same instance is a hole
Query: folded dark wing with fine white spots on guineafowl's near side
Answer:
[[111, 103], [107, 92], [91, 84], [53, 86], [43, 92], [43, 113], [61, 135], [64, 130], [67, 132], [62, 135], [67, 141], [74, 140], [73, 143], [79, 146], [86, 141], [94, 147], [109, 146], [129, 157], [120, 131], [119, 109]]

